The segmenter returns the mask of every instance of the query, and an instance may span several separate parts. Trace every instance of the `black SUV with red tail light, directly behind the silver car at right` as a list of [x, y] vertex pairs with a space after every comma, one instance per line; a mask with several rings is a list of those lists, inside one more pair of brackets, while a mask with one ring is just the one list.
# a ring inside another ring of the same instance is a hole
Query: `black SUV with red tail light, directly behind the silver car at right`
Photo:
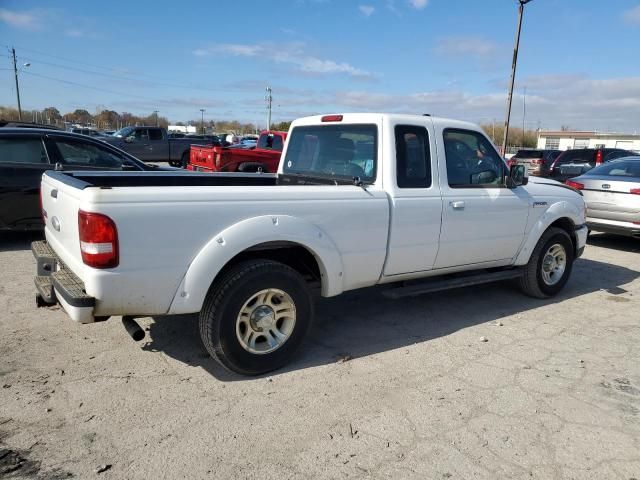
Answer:
[[560, 182], [582, 175], [592, 168], [616, 158], [634, 155], [621, 148], [579, 148], [562, 152], [549, 169], [549, 177]]

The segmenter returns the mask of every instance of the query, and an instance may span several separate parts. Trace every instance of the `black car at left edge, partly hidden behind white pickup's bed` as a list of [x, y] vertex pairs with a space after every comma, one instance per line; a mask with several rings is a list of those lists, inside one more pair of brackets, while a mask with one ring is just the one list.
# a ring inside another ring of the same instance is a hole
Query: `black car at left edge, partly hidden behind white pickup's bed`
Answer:
[[0, 231], [39, 230], [45, 170], [157, 170], [85, 135], [43, 128], [0, 128]]

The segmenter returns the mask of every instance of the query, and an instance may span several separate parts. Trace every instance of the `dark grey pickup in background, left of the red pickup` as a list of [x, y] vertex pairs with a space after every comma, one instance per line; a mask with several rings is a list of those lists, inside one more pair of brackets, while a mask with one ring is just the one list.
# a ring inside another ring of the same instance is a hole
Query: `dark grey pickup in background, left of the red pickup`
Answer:
[[160, 127], [124, 127], [100, 140], [143, 162], [169, 162], [172, 167], [182, 168], [189, 163], [191, 144], [198, 141], [187, 137], [169, 138], [167, 131]]

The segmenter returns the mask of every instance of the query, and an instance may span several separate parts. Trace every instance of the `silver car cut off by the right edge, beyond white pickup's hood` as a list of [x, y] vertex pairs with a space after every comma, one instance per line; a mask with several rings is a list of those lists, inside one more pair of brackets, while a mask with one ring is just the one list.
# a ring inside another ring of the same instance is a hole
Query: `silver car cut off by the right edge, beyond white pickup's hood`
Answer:
[[640, 238], [640, 156], [605, 163], [566, 184], [582, 191], [590, 230]]

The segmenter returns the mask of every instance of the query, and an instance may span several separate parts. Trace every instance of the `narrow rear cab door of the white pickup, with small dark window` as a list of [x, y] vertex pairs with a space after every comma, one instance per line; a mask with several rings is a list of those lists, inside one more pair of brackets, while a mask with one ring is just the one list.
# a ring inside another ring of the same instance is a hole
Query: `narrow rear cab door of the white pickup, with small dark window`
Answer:
[[[431, 125], [390, 125], [395, 167], [390, 175], [391, 218], [384, 275], [433, 268], [438, 253], [442, 199], [432, 172], [436, 167]], [[393, 157], [389, 157], [393, 158]]]

